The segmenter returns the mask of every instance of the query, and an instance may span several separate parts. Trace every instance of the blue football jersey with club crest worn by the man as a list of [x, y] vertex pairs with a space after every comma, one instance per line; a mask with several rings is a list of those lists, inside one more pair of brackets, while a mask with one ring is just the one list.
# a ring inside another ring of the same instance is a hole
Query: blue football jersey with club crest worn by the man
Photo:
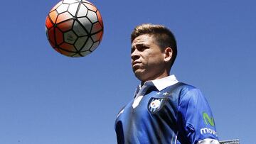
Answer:
[[118, 113], [119, 144], [178, 144], [217, 141], [213, 113], [199, 89], [178, 82], [160, 92], [151, 86]]

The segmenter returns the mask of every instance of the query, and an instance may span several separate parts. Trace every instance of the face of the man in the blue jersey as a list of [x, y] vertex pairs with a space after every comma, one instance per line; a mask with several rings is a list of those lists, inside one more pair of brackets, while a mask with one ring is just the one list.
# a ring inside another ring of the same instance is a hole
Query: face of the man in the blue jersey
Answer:
[[132, 70], [142, 82], [159, 79], [166, 74], [164, 73], [166, 70], [164, 52], [151, 35], [139, 35], [133, 40], [131, 57]]

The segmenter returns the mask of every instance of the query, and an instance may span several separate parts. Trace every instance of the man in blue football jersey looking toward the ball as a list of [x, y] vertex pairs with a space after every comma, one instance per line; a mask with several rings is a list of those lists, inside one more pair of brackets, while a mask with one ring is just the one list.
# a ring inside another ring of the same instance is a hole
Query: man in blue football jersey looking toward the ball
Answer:
[[132, 70], [141, 84], [117, 115], [117, 143], [219, 143], [213, 114], [200, 90], [169, 74], [177, 55], [171, 31], [142, 24], [131, 41]]

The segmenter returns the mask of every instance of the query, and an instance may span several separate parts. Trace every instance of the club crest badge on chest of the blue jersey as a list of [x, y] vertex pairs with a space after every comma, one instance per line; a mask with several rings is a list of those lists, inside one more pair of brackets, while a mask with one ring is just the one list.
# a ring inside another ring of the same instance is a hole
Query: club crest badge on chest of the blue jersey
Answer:
[[164, 106], [165, 101], [166, 101], [166, 98], [151, 97], [151, 99], [149, 99], [149, 103], [148, 103], [148, 110], [151, 113], [156, 113]]

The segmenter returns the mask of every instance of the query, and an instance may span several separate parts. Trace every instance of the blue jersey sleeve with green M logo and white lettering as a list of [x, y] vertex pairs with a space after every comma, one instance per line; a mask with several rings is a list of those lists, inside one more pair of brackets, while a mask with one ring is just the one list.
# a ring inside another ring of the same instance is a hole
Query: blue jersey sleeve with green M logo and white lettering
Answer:
[[189, 143], [196, 144], [206, 139], [218, 142], [213, 113], [199, 89], [181, 92], [178, 127]]

